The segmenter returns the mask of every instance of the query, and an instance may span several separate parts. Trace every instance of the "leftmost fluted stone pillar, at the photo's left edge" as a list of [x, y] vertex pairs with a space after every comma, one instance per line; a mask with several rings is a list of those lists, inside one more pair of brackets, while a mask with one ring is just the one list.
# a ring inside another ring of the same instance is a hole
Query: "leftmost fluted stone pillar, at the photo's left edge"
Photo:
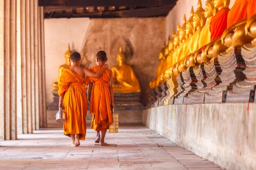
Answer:
[[17, 139], [16, 0], [0, 2], [0, 139]]

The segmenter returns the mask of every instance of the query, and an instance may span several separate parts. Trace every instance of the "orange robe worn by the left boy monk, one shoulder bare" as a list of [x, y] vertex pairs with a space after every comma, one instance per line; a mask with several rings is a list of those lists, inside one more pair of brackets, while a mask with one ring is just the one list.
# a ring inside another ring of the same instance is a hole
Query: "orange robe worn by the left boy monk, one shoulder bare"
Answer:
[[87, 114], [87, 97], [85, 79], [74, 71], [65, 69], [58, 79], [58, 95], [63, 95], [63, 107], [66, 112], [66, 123], [63, 124], [64, 135], [80, 134], [85, 140]]

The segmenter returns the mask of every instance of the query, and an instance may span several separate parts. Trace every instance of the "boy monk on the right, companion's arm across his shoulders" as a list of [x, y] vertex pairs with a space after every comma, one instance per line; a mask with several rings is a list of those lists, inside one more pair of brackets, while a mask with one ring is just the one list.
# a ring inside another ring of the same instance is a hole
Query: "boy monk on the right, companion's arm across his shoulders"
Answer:
[[[96, 55], [97, 66], [90, 68], [96, 73], [108, 61], [105, 51], [99, 51]], [[92, 113], [91, 128], [97, 131], [96, 143], [105, 146], [105, 135], [108, 125], [112, 124], [111, 108], [114, 105], [113, 73], [106, 69], [99, 78], [85, 77], [88, 84], [88, 102], [90, 103], [90, 113]], [[93, 84], [92, 84], [93, 83]], [[101, 131], [101, 136], [100, 136]]]

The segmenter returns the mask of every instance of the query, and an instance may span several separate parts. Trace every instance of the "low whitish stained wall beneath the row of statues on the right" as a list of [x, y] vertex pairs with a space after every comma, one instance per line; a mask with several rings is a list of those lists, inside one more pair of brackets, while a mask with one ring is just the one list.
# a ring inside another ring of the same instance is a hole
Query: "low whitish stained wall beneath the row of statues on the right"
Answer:
[[227, 170], [256, 169], [256, 104], [166, 105], [144, 110], [144, 125]]

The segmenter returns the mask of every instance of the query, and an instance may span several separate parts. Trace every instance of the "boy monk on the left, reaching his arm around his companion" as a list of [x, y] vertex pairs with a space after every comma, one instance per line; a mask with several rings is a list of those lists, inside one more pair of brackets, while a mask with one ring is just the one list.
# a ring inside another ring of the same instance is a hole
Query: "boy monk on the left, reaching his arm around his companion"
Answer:
[[65, 69], [58, 79], [59, 106], [66, 112], [66, 123], [63, 124], [64, 135], [72, 138], [71, 146], [79, 146], [79, 140], [85, 140], [87, 100], [84, 75], [99, 77], [108, 68], [102, 66], [97, 73], [80, 67], [81, 55], [74, 52], [70, 55], [71, 67]]

